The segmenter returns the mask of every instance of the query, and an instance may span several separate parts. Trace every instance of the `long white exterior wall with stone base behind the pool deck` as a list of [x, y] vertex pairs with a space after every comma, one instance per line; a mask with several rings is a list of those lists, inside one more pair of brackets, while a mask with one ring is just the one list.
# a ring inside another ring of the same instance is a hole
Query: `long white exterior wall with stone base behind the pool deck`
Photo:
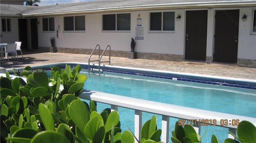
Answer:
[[[256, 62], [256, 35], [250, 35], [253, 8], [208, 9], [206, 62], [210, 63], [213, 61], [215, 10], [232, 9], [240, 10], [238, 35], [238, 66], [254, 67], [253, 64]], [[175, 17], [178, 16], [178, 14], [180, 14], [181, 16], [181, 19], [179, 21], [175, 20], [174, 33], [150, 33], [150, 12], [166, 11], [175, 12]], [[95, 45], [99, 44], [101, 46], [101, 49], [104, 49], [107, 45], [110, 45], [111, 50], [114, 53], [114, 55], [112, 54], [113, 56], [128, 57], [128, 52], [130, 51], [131, 37], [135, 37], [136, 35], [136, 20], [138, 18], [138, 14], [140, 14], [140, 18], [142, 18], [142, 26], [144, 27], [144, 40], [136, 40], [135, 51], [138, 53], [137, 57], [142, 59], [159, 59], [167, 61], [184, 60], [186, 10], [154, 10], [127, 13], [131, 14], [131, 30], [128, 32], [102, 31], [102, 13], [84, 14], [86, 32], [64, 32], [64, 16], [54, 16], [55, 32], [42, 32], [42, 18], [38, 18], [38, 20], [40, 21], [40, 25], [38, 25], [38, 45], [39, 47], [51, 47], [50, 37], [54, 36], [56, 39], [55, 41], [58, 52], [90, 53], [90, 51], [95, 47]], [[245, 22], [241, 20], [243, 14], [247, 15], [247, 20]], [[57, 38], [56, 30], [58, 30], [58, 25], [60, 25], [60, 29], [59, 37]]]

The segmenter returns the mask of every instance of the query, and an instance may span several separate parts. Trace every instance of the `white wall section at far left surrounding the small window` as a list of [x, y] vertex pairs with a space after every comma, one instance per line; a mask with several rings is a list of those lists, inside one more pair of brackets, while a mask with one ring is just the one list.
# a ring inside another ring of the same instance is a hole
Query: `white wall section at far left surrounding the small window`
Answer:
[[[1, 17], [1, 19], [4, 17]], [[18, 29], [18, 18], [10, 18], [11, 19], [11, 32], [3, 32], [2, 31], [2, 20], [0, 22], [1, 27], [1, 43], [15, 43], [15, 41], [19, 40], [19, 29]]]

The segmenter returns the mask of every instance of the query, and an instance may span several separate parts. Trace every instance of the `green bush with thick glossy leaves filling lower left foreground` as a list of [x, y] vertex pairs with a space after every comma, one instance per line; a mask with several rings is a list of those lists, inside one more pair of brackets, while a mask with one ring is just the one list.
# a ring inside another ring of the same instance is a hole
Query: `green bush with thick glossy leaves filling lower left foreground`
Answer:
[[[11, 79], [0, 78], [1, 142], [12, 143], [132, 143], [130, 131], [121, 133], [119, 114], [110, 109], [96, 111], [78, 98], [87, 77], [81, 66], [51, 68], [51, 77], [42, 69], [26, 67]], [[14, 70], [16, 71], [16, 70]], [[145, 135], [145, 136], [143, 136]], [[156, 117], [142, 127], [141, 143], [160, 142]]]

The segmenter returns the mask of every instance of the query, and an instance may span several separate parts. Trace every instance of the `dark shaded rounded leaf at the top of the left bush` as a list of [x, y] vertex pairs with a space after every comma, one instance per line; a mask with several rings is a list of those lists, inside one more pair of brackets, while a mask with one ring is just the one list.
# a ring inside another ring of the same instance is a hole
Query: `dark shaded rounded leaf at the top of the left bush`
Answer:
[[46, 72], [43, 72], [42, 69], [36, 70], [33, 74], [34, 80], [38, 82], [38, 84], [42, 87], [48, 88], [49, 79]]

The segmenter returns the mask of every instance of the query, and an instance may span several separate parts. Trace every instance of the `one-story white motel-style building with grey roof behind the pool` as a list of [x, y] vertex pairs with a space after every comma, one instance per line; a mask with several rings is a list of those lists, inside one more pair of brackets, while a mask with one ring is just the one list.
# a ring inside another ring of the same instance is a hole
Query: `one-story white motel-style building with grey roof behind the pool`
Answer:
[[[99, 44], [128, 57], [256, 68], [255, 0], [95, 0], [52, 6], [1, 4], [1, 43], [90, 54]], [[85, 59], [84, 62], [86, 62]]]

